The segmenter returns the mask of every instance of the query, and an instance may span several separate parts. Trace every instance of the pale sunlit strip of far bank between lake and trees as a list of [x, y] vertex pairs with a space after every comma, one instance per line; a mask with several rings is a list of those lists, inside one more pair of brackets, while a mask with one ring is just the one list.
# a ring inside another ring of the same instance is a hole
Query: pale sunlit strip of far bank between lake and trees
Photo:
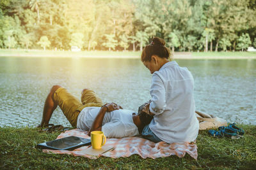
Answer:
[[[141, 52], [51, 51], [0, 49], [0, 57], [86, 57], [140, 59]], [[256, 59], [256, 52], [175, 52], [174, 59]]]

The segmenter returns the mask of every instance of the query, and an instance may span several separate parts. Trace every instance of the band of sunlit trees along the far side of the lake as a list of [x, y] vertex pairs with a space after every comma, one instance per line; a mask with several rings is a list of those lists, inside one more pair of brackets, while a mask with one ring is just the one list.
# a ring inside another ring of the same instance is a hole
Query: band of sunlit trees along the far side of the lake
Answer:
[[256, 0], [1, 0], [0, 48], [245, 50], [255, 16]]

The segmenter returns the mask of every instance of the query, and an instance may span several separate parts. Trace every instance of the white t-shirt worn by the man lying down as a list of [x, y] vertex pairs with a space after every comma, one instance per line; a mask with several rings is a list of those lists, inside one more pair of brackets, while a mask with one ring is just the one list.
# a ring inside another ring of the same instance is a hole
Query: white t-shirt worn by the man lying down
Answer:
[[[89, 131], [100, 111], [99, 107], [86, 107], [77, 117], [77, 128]], [[131, 110], [114, 110], [106, 112], [101, 131], [107, 138], [124, 138], [139, 135], [138, 127], [134, 124]]]

